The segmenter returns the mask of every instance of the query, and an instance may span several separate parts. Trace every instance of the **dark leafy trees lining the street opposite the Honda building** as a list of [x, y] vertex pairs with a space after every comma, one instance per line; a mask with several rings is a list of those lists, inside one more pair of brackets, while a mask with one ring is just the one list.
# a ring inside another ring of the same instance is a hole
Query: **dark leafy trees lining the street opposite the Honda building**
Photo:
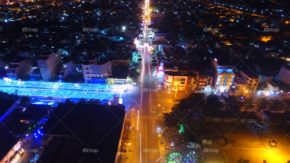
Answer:
[[244, 112], [239, 111], [255, 111], [265, 110], [277, 111], [287, 109], [290, 106], [290, 99], [285, 101], [267, 100], [265, 98], [258, 99], [253, 102], [251, 97], [241, 99], [240, 96], [229, 94], [211, 94], [205, 96], [202, 93], [191, 93], [188, 97], [180, 100], [179, 104], [172, 107], [172, 111], [164, 113], [164, 121], [166, 125], [174, 131], [180, 131], [180, 125], [187, 126], [185, 132], [181, 134], [182, 139], [186, 140], [194, 136], [194, 132], [198, 132], [205, 124], [206, 117], [226, 117], [227, 113], [234, 112], [240, 115]]

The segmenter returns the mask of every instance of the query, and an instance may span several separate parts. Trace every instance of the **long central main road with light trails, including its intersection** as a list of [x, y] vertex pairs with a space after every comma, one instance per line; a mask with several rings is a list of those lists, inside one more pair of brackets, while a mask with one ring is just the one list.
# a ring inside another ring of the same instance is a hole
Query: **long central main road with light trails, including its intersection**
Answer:
[[[143, 43], [150, 44], [148, 19], [145, 21], [143, 30]], [[142, 61], [140, 62], [140, 82], [133, 92], [123, 94], [123, 104], [128, 108], [134, 109], [135, 126], [133, 131], [133, 140], [131, 139], [132, 158], [126, 159], [125, 162], [160, 162], [159, 145], [161, 144], [158, 133], [158, 114], [160, 118], [162, 112], [170, 110], [174, 102], [174, 94], [167, 94], [156, 91], [157, 84], [162, 77], [156, 77], [154, 68], [151, 66], [152, 57], [150, 50], [143, 48], [139, 51]], [[164, 108], [164, 109], [163, 109]], [[132, 134], [132, 133], [131, 133]], [[158, 160], [158, 161], [157, 161]]]

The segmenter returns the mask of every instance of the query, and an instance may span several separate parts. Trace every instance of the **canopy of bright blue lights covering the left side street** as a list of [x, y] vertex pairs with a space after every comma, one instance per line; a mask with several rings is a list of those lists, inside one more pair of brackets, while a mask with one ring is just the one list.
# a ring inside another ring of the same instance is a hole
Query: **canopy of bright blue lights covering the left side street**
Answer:
[[60, 82], [18, 81], [0, 79], [0, 91], [19, 95], [65, 98], [111, 99], [126, 90], [126, 85], [74, 84]]

